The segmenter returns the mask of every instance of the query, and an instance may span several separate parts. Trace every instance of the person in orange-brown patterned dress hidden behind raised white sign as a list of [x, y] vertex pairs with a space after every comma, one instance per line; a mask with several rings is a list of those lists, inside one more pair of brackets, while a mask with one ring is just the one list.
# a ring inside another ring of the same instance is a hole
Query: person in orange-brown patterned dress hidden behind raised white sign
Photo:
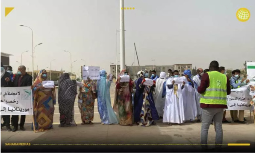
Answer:
[[82, 100], [81, 103], [78, 103], [79, 111], [81, 114], [81, 125], [84, 124], [93, 124], [94, 117], [94, 101], [93, 93], [97, 92], [97, 83], [90, 78], [87, 80], [82, 80], [82, 82], [77, 82], [79, 86], [78, 99]]

